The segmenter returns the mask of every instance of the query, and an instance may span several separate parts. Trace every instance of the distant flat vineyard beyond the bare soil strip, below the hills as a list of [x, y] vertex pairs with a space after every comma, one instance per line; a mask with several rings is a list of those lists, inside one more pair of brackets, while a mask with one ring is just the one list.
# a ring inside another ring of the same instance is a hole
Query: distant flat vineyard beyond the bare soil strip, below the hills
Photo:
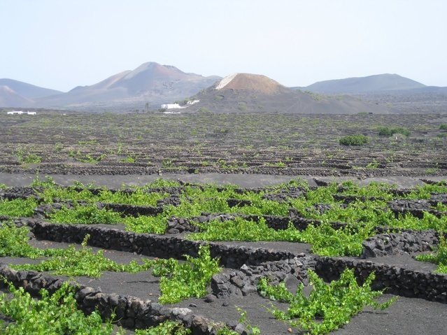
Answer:
[[442, 114], [37, 113], [0, 115], [0, 172], [363, 178], [447, 170]]

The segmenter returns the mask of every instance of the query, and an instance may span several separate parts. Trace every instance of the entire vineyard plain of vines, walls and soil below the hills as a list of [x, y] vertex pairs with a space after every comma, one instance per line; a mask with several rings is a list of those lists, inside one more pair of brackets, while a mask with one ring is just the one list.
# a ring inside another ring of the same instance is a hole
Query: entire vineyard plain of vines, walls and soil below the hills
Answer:
[[446, 122], [2, 114], [0, 333], [443, 334]]

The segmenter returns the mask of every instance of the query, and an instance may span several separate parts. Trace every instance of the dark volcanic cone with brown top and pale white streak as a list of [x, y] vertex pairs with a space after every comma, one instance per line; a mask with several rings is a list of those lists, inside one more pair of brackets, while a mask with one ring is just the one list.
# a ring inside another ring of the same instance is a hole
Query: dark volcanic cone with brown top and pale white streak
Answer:
[[[279, 112], [304, 114], [390, 113], [381, 104], [368, 104], [348, 95], [330, 97], [292, 90], [266, 76], [236, 73], [227, 76], [194, 99], [199, 103], [182, 111], [209, 111], [214, 113]], [[201, 109], [200, 109], [201, 108]]]

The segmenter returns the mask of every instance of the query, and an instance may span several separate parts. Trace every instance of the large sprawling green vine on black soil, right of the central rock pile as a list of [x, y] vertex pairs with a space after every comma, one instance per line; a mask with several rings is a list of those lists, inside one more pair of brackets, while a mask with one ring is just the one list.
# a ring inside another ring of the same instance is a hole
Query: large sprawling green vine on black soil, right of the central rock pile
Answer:
[[290, 325], [307, 331], [307, 334], [328, 334], [348, 323], [364, 306], [384, 309], [394, 301], [390, 299], [383, 304], [376, 301], [383, 292], [371, 290], [374, 273], [369, 274], [363, 285], [357, 284], [353, 269], [346, 269], [339, 280], [329, 284], [310, 269], [308, 277], [313, 287], [309, 297], [304, 295], [302, 283], [298, 285], [296, 294], [292, 294], [284, 283], [270, 285], [267, 278], [261, 278], [257, 285], [263, 297], [290, 304], [285, 312], [272, 304], [271, 312], [275, 318], [288, 320]]

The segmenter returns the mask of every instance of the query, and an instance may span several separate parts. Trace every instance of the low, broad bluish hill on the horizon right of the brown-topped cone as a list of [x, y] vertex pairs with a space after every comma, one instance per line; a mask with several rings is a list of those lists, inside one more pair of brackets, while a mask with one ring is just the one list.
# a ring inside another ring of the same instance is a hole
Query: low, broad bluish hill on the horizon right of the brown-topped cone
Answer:
[[425, 85], [418, 83], [415, 80], [404, 78], [397, 74], [385, 73], [367, 77], [325, 80], [307, 87], [302, 87], [302, 89], [328, 94], [359, 94], [365, 92], [412, 90], [422, 87], [425, 87]]

